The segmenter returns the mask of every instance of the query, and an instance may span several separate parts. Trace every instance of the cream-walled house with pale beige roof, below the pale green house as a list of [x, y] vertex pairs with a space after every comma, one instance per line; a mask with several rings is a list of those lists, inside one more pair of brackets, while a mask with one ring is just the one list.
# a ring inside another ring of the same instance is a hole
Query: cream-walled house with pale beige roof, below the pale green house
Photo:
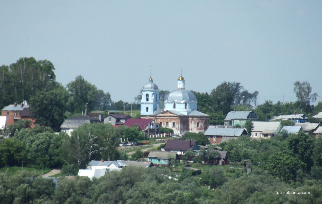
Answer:
[[253, 122], [254, 128], [251, 130], [252, 139], [268, 139], [279, 134], [282, 129], [282, 123], [276, 122]]

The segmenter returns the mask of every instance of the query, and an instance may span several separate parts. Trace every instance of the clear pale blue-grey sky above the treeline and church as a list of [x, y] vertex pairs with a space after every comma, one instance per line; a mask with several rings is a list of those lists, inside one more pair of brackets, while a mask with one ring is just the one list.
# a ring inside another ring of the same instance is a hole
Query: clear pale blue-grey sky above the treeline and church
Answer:
[[240, 82], [258, 102], [295, 102], [295, 81], [322, 101], [322, 1], [0, 0], [0, 65], [47, 59], [62, 85], [82, 75], [134, 102], [161, 90], [210, 93]]

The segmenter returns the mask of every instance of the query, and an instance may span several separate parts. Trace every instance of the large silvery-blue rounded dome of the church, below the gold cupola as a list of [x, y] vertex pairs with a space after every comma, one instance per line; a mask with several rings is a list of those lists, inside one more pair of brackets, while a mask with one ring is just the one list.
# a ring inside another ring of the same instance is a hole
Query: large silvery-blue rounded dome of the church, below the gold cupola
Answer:
[[176, 89], [168, 95], [166, 95], [165, 101], [166, 103], [172, 103], [172, 102], [179, 102], [179, 103], [185, 103], [185, 102], [197, 102], [197, 98], [191, 91], [185, 90], [185, 89]]

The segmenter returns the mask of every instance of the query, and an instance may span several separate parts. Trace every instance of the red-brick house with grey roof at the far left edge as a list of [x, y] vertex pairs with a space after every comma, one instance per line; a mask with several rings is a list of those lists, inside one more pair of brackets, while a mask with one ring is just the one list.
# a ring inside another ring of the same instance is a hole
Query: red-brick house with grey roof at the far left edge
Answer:
[[27, 101], [24, 101], [21, 104], [14, 103], [4, 107], [1, 111], [1, 116], [6, 116], [6, 126], [14, 124], [17, 120], [21, 120], [21, 112], [24, 108], [29, 108]]

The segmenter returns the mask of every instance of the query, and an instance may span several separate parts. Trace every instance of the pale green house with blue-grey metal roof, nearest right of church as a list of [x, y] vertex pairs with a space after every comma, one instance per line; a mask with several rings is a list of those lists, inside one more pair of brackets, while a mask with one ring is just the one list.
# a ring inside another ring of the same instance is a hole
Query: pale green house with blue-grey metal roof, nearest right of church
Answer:
[[245, 125], [247, 120], [257, 121], [257, 115], [254, 111], [230, 111], [225, 118], [225, 125]]

